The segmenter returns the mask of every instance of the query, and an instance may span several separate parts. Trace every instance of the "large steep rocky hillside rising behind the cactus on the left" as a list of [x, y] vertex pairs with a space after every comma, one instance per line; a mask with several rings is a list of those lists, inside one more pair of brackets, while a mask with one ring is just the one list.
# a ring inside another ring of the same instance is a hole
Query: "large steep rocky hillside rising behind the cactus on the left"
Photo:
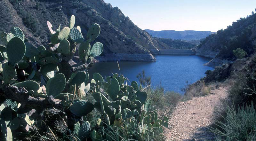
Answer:
[[167, 45], [152, 38], [147, 32], [134, 25], [120, 9], [103, 0], [1, 0], [0, 31], [10, 32], [11, 27], [20, 27], [29, 41], [47, 46], [50, 34], [46, 21], [53, 29], [68, 26], [71, 15], [76, 16], [76, 25], [85, 36], [93, 23], [101, 27], [95, 42], [104, 45], [101, 58], [108, 60], [154, 61], [151, 53]]

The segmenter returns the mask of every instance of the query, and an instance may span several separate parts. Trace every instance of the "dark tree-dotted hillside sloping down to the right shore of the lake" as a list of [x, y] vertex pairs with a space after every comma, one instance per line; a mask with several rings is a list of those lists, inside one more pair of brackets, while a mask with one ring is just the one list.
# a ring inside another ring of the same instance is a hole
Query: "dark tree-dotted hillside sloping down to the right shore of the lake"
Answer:
[[212, 57], [207, 65], [218, 66], [236, 60], [233, 50], [241, 48], [251, 55], [255, 48], [256, 14], [240, 18], [225, 30], [209, 35], [196, 48], [196, 55]]

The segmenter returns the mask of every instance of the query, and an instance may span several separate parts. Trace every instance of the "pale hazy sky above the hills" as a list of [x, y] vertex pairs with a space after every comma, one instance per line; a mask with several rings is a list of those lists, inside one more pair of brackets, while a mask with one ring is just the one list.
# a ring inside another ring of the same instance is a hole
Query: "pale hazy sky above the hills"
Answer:
[[250, 15], [256, 0], [104, 0], [141, 29], [217, 32]]

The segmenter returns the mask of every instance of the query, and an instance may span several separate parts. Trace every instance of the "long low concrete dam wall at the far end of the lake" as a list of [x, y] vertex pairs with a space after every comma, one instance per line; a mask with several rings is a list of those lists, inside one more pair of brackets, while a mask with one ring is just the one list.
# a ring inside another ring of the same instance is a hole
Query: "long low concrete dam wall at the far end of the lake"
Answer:
[[195, 55], [196, 51], [193, 49], [158, 49], [158, 54], [163, 55]]

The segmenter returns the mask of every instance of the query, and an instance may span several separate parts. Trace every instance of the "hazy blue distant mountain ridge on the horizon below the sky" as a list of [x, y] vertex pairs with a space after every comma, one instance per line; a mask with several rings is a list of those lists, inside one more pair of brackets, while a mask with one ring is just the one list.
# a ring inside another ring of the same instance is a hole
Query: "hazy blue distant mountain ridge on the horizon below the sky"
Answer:
[[212, 34], [211, 31], [194, 31], [194, 30], [185, 30], [185, 31], [175, 31], [175, 30], [162, 30], [154, 31], [150, 29], [145, 29], [150, 35], [157, 38], [171, 38], [174, 40], [200, 40]]

